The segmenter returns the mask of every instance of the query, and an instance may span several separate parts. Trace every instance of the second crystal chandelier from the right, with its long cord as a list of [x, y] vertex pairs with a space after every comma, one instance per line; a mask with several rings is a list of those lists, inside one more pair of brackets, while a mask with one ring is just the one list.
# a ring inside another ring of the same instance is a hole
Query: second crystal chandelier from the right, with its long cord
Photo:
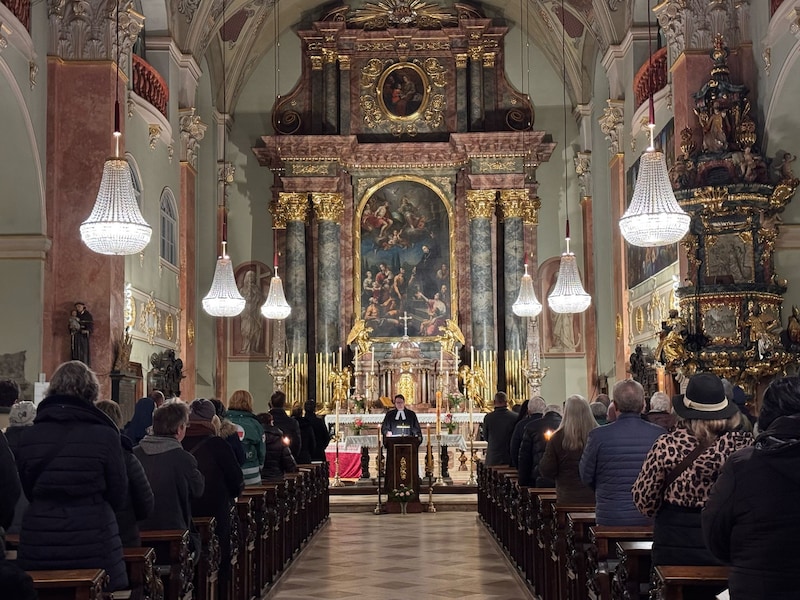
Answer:
[[[561, 0], [561, 14], [564, 13], [564, 0]], [[564, 197], [567, 198], [567, 46], [565, 27], [561, 29], [561, 75], [564, 80]], [[575, 262], [575, 254], [569, 249], [569, 203], [567, 204], [567, 251], [561, 255], [558, 265], [556, 285], [547, 297], [547, 305], [555, 313], [581, 313], [589, 308], [592, 297], [586, 293], [581, 283], [581, 274]]]

